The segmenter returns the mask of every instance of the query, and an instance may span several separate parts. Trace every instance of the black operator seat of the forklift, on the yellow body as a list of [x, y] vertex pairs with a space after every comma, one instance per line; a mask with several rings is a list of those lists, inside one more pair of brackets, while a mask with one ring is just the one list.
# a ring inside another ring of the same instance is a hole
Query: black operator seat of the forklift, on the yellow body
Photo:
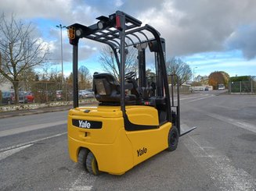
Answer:
[[[131, 89], [131, 84], [128, 84], [128, 89]], [[93, 75], [93, 90], [96, 100], [100, 104], [118, 105], [121, 101], [121, 87], [110, 73], [94, 73]], [[125, 95], [124, 101], [126, 104], [135, 104], [136, 97], [133, 94]]]

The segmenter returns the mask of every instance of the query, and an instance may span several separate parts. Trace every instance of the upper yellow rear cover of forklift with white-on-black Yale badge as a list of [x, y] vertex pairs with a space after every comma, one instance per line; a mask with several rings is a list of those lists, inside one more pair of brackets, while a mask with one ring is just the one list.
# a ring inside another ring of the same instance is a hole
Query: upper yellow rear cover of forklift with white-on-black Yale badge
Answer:
[[69, 138], [85, 143], [114, 143], [124, 125], [118, 106], [79, 107], [68, 115]]

